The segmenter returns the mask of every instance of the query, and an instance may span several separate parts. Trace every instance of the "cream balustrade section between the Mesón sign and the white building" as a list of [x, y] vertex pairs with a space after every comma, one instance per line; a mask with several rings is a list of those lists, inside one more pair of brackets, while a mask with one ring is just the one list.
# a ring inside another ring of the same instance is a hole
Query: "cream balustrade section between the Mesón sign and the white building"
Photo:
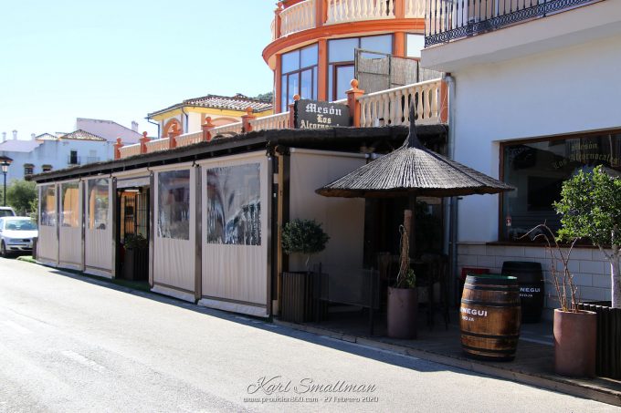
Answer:
[[410, 105], [416, 105], [417, 124], [439, 123], [441, 83], [439, 79], [429, 80], [361, 96], [360, 126], [409, 125]]

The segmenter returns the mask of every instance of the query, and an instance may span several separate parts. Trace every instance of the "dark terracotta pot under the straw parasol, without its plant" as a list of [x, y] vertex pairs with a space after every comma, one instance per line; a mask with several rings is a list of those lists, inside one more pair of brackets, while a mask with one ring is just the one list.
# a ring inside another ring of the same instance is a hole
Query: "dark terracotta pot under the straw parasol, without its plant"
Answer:
[[418, 290], [416, 288], [388, 287], [388, 336], [416, 338], [416, 313]]

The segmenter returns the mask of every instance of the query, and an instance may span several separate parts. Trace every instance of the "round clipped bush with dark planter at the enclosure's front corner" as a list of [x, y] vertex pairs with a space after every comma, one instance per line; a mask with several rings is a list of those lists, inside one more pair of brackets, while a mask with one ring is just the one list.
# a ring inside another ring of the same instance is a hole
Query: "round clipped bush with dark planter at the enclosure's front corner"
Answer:
[[313, 291], [317, 284], [316, 276], [310, 272], [310, 255], [321, 253], [330, 236], [323, 232], [321, 223], [296, 219], [283, 226], [281, 237], [284, 253], [306, 255], [306, 271], [282, 273], [280, 318], [298, 323], [309, 321], [316, 305]]

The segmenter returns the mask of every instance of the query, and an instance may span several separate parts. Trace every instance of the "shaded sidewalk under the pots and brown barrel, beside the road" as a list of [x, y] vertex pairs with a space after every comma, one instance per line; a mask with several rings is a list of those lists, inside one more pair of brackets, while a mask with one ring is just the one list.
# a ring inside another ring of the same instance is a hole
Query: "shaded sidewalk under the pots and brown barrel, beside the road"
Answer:
[[[377, 319], [380, 318], [378, 315]], [[456, 319], [457, 315], [452, 315], [451, 320]], [[374, 336], [369, 336], [366, 318], [359, 315], [331, 315], [329, 321], [304, 325], [278, 319], [274, 323], [621, 407], [621, 380], [570, 378], [554, 374], [552, 324], [549, 322], [522, 325], [517, 355], [510, 362], [466, 357], [459, 342], [459, 326], [455, 324], [449, 324], [447, 329], [443, 323], [436, 323], [433, 329], [420, 325], [416, 340], [402, 340], [385, 336], [385, 325], [376, 325]]]

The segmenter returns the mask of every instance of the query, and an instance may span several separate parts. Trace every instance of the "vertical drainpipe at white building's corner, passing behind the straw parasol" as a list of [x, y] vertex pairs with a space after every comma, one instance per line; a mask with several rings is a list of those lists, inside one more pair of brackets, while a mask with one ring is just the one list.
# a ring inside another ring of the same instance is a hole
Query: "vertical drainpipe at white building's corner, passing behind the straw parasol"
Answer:
[[[455, 78], [446, 73], [443, 80], [447, 82], [448, 87], [448, 132], [447, 132], [447, 155], [451, 160], [455, 160]], [[445, 227], [445, 253], [449, 258], [449, 289], [452, 290], [453, 296], [457, 296], [457, 279], [458, 279], [458, 197], [451, 197], [448, 201]]]

